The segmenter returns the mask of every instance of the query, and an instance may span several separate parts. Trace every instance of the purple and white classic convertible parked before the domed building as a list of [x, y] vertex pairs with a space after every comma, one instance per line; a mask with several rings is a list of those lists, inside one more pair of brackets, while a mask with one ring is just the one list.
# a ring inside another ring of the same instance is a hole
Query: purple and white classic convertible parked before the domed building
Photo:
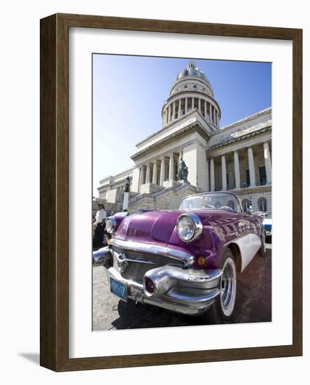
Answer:
[[213, 323], [231, 320], [237, 273], [265, 253], [262, 218], [230, 192], [185, 197], [178, 210], [115, 214], [106, 228], [112, 238], [93, 258], [112, 293]]

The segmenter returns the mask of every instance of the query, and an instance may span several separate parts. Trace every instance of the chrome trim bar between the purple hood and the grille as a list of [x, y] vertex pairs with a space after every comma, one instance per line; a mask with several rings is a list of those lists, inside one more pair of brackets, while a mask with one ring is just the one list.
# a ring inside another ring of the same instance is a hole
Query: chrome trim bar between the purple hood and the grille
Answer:
[[182, 260], [186, 267], [190, 267], [194, 264], [194, 255], [187, 253], [186, 251], [177, 250], [176, 248], [155, 246], [152, 244], [143, 244], [135, 241], [122, 241], [121, 239], [112, 238], [110, 240], [112, 246], [119, 248], [127, 248], [132, 251], [140, 251], [141, 253], [160, 254], [167, 257]]

